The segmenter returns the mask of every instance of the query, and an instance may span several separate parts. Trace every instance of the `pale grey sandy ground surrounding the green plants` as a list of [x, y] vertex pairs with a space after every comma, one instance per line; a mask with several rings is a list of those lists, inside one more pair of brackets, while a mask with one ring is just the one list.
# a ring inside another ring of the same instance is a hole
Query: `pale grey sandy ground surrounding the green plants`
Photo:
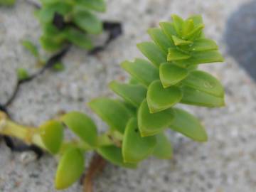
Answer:
[[[36, 70], [35, 59], [20, 44], [21, 39], [36, 42], [40, 36], [33, 7], [17, 0], [13, 8], [0, 8], [0, 102], [11, 94], [16, 82], [15, 69]], [[107, 82], [127, 76], [119, 67], [122, 60], [141, 56], [136, 43], [149, 39], [146, 29], [169, 19], [203, 14], [206, 35], [215, 39], [225, 63], [203, 65], [225, 85], [226, 107], [208, 110], [188, 107], [206, 125], [209, 141], [199, 144], [172, 134], [174, 159], [148, 159], [137, 170], [107, 165], [95, 180], [100, 192], [238, 192], [256, 188], [256, 86], [235, 58], [228, 54], [225, 32], [227, 22], [247, 0], [109, 0], [102, 18], [122, 21], [124, 35], [97, 57], [72, 48], [65, 57], [66, 70], [47, 72], [21, 87], [10, 107], [17, 122], [38, 126], [61, 110], [80, 110], [91, 114], [85, 103], [93, 97], [112, 95]], [[238, 23], [243, 25], [243, 22]], [[255, 34], [255, 33], [254, 33]], [[239, 45], [238, 45], [239, 46]], [[105, 129], [95, 115], [99, 129]], [[57, 163], [45, 155], [39, 161], [27, 161], [24, 154], [11, 153], [0, 143], [1, 192], [52, 192]], [[75, 183], [65, 192], [80, 192]]]

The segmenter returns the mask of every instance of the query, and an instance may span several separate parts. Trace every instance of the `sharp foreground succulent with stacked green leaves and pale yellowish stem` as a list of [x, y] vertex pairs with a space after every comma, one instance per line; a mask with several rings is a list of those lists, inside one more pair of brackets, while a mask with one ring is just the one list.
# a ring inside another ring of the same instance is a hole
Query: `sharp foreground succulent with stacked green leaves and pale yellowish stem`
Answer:
[[[110, 82], [120, 97], [100, 97], [89, 105], [110, 127], [103, 134], [90, 117], [69, 112], [59, 119], [31, 129], [11, 122], [1, 115], [0, 134], [17, 137], [60, 156], [55, 187], [67, 188], [84, 170], [84, 154], [95, 151], [117, 166], [135, 168], [149, 156], [170, 159], [172, 147], [166, 129], [172, 129], [197, 142], [206, 142], [201, 122], [176, 104], [222, 107], [223, 86], [209, 73], [198, 70], [203, 63], [222, 62], [214, 41], [203, 34], [201, 16], [183, 20], [172, 16], [172, 22], [149, 29], [153, 41], [139, 43], [148, 60], [124, 61], [122, 68], [131, 75], [129, 82]], [[73, 131], [77, 140], [63, 140], [63, 130]], [[91, 175], [92, 171], [89, 174]]]

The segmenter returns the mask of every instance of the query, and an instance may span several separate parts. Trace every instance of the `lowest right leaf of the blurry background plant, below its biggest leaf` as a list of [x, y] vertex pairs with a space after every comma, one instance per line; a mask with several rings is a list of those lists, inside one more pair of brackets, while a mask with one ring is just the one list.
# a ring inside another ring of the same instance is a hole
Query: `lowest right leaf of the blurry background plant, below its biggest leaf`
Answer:
[[76, 46], [87, 50], [91, 50], [93, 48], [90, 38], [85, 33], [78, 31], [78, 29], [66, 28], [64, 33], [66, 38]]

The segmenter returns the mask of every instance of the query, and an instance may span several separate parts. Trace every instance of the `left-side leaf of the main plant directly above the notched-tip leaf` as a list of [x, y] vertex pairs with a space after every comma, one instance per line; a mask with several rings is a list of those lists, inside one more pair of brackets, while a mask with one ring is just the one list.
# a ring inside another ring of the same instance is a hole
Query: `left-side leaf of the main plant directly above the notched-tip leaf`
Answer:
[[156, 68], [159, 68], [161, 63], [166, 62], [166, 54], [156, 44], [152, 42], [143, 42], [137, 44], [139, 50], [148, 58]]

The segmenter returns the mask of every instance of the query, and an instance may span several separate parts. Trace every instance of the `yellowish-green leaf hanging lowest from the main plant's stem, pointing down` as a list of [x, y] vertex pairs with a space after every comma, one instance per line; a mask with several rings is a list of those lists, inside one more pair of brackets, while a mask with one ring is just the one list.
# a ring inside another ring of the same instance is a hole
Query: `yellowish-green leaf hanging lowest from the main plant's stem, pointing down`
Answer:
[[77, 181], [84, 171], [84, 157], [80, 149], [69, 148], [61, 156], [55, 176], [55, 188], [64, 189]]

